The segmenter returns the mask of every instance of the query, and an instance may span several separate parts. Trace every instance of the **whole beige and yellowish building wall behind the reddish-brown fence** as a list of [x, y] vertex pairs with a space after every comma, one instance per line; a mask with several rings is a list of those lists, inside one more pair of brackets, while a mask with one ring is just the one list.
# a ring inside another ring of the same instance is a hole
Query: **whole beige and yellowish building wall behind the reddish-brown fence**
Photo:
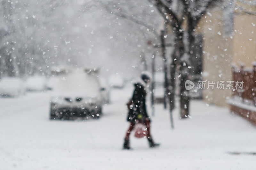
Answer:
[[[198, 26], [198, 31], [204, 35], [204, 80], [232, 80], [233, 63], [252, 66], [252, 62], [256, 62], [256, 16], [236, 12], [234, 31], [225, 36], [222, 18], [222, 11], [215, 11], [211, 16], [205, 15]], [[226, 107], [231, 90], [206, 89], [203, 95], [206, 102]]]

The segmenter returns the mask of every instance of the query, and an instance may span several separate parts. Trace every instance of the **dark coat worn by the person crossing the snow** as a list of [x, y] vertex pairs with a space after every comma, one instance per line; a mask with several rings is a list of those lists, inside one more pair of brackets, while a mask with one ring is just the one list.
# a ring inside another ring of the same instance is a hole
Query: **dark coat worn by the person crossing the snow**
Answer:
[[135, 122], [136, 120], [143, 121], [149, 119], [146, 110], [146, 89], [141, 83], [134, 84], [135, 89], [132, 96], [132, 105], [129, 108], [127, 121]]

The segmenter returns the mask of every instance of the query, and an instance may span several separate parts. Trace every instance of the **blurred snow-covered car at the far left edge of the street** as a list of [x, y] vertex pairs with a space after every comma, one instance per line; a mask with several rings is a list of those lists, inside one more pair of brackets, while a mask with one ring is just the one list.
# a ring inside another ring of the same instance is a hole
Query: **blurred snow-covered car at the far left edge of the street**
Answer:
[[18, 97], [25, 94], [24, 81], [18, 77], [4, 77], [0, 79], [1, 97]]

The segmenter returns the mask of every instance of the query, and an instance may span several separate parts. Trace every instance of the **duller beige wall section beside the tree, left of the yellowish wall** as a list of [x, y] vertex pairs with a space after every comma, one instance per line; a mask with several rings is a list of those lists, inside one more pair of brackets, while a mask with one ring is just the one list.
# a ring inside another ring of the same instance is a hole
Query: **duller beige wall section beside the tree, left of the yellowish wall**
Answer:
[[[233, 53], [233, 37], [224, 36], [222, 11], [215, 11], [205, 15], [199, 24], [198, 31], [204, 35], [203, 44], [203, 80], [229, 81], [231, 76], [231, 63]], [[215, 88], [205, 89], [203, 98], [210, 104], [226, 107], [226, 100], [230, 98], [231, 91]]]

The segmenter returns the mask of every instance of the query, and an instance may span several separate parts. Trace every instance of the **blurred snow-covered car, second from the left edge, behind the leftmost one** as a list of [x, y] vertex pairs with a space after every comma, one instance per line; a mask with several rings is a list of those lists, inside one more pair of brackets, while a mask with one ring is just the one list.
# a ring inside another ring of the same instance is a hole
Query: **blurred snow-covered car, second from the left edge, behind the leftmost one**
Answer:
[[27, 92], [42, 92], [47, 89], [46, 78], [44, 76], [31, 76], [26, 80]]

